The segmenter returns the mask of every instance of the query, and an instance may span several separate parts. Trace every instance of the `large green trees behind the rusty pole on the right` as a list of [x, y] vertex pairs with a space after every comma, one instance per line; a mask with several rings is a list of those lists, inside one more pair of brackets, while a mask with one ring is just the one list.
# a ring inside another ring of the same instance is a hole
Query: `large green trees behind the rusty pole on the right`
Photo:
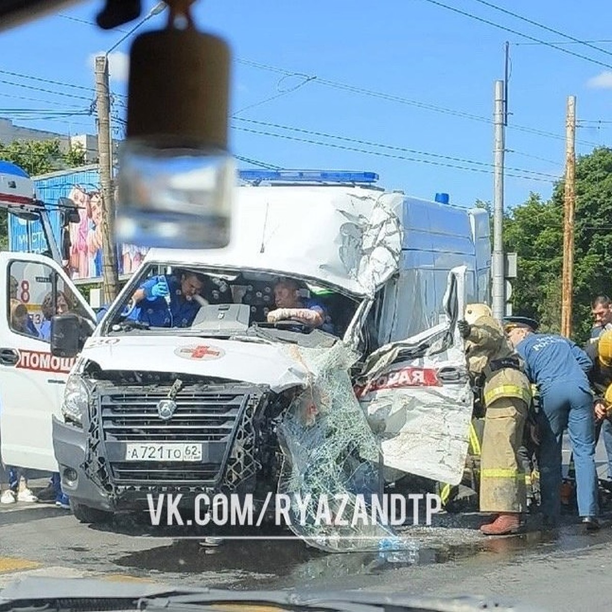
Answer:
[[[531, 193], [504, 220], [504, 245], [518, 253], [514, 311], [539, 319], [543, 330], [561, 327], [564, 181], [549, 201]], [[576, 164], [573, 337], [591, 328], [590, 304], [612, 293], [612, 149], [600, 147]]]

